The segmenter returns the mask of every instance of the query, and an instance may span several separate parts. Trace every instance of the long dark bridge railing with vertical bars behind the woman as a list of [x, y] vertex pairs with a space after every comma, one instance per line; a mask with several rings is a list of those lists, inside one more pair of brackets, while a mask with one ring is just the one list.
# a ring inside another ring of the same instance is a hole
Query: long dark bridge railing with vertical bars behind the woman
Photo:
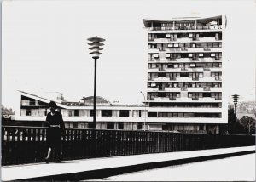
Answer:
[[[43, 162], [47, 128], [2, 126], [2, 165]], [[254, 136], [66, 129], [64, 160], [255, 145]], [[55, 154], [53, 154], [55, 156]]]

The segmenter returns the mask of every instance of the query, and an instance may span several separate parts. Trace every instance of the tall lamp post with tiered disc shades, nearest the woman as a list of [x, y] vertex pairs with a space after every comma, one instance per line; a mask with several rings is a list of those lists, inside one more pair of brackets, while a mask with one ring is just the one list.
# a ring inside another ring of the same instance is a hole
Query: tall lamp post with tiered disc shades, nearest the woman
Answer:
[[92, 52], [92, 58], [94, 59], [94, 94], [93, 94], [93, 127], [96, 128], [96, 67], [97, 62], [96, 60], [100, 57], [100, 50], [103, 50], [103, 48], [100, 48], [100, 46], [103, 46], [104, 44], [101, 42], [104, 42], [105, 39], [101, 37], [90, 37], [87, 39], [91, 43], [88, 43], [91, 47], [89, 48]]

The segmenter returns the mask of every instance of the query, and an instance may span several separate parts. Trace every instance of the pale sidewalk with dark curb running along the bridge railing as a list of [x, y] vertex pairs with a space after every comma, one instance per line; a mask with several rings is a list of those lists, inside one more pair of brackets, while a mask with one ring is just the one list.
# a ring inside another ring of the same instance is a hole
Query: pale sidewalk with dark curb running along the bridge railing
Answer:
[[134, 156], [112, 156], [61, 163], [36, 163], [2, 167], [2, 180], [78, 180], [100, 179], [119, 173], [130, 173], [147, 168], [164, 167], [213, 158], [237, 156], [255, 152], [255, 146], [212, 149], [202, 151], [179, 151], [142, 154]]

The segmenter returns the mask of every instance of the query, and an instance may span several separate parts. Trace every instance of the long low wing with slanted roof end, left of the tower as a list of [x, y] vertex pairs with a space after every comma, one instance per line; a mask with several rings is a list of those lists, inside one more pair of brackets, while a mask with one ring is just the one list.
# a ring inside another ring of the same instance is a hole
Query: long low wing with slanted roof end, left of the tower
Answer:
[[[41, 126], [49, 112], [49, 99], [19, 91], [20, 109], [16, 111], [16, 122]], [[90, 128], [93, 119], [93, 97], [84, 97], [79, 101], [56, 100], [66, 128]], [[112, 105], [102, 97], [96, 97], [96, 128], [98, 129], [143, 129], [146, 115], [143, 105]], [[147, 124], [148, 126], [148, 124]], [[154, 123], [150, 124], [154, 129]]]

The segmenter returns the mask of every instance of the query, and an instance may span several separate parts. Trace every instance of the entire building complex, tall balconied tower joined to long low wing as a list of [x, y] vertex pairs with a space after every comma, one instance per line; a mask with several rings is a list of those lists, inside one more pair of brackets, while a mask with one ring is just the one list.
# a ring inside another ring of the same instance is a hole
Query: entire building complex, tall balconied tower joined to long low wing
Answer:
[[[223, 16], [143, 20], [148, 30], [145, 105], [113, 105], [96, 98], [96, 128], [218, 134], [227, 124]], [[146, 74], [146, 73], [145, 73]], [[20, 91], [15, 120], [42, 124], [47, 99]], [[93, 97], [55, 98], [67, 128], [90, 128]]]

